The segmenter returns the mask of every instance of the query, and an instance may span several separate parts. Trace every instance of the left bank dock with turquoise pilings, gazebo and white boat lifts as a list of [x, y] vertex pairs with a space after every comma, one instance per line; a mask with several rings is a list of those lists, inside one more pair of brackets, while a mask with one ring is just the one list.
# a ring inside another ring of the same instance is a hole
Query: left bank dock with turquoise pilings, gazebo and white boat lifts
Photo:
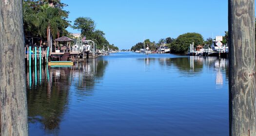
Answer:
[[[105, 55], [102, 51], [96, 50], [97, 45], [92, 40], [84, 40], [86, 45], [80, 43], [78, 46], [74, 45], [71, 48], [71, 41], [73, 39], [62, 36], [55, 40], [52, 46], [26, 46], [24, 47], [25, 66], [32, 65], [47, 65], [50, 61], [78, 61], [88, 58], [97, 58]], [[59, 42], [66, 42], [67, 46], [59, 44]], [[58, 45], [59, 44], [59, 45]]]

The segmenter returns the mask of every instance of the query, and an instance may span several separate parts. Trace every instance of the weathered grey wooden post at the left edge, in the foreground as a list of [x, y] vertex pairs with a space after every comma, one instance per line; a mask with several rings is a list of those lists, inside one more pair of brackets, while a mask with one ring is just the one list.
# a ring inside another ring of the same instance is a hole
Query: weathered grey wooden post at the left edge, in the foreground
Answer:
[[0, 0], [1, 136], [27, 136], [22, 0]]

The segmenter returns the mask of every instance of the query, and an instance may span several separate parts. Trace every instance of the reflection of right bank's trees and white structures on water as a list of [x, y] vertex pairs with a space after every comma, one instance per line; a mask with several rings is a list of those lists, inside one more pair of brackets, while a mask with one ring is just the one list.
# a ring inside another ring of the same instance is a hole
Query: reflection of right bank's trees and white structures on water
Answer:
[[[185, 77], [192, 77], [202, 73], [203, 69], [209, 71], [215, 70], [217, 88], [223, 86], [224, 77], [228, 80], [228, 59], [217, 57], [175, 57], [175, 58], [138, 58], [138, 62], [144, 61], [149, 68], [155, 63], [161, 67], [174, 67], [178, 69], [179, 74]], [[225, 76], [223, 74], [226, 74]]]

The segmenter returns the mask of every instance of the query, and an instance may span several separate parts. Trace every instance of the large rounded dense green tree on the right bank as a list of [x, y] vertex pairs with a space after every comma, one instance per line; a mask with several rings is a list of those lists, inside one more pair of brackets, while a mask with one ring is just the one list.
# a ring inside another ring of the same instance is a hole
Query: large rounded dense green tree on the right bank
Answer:
[[203, 37], [198, 33], [186, 33], [179, 35], [176, 40], [170, 45], [170, 49], [174, 53], [185, 53], [189, 49], [189, 45], [194, 42], [194, 45], [202, 45]]

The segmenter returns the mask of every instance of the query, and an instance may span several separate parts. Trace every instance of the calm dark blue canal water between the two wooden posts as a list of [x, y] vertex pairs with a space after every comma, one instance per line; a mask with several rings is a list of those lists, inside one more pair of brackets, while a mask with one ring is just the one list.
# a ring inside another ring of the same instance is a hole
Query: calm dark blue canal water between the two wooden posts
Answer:
[[27, 70], [30, 136], [228, 136], [228, 60], [122, 52]]

